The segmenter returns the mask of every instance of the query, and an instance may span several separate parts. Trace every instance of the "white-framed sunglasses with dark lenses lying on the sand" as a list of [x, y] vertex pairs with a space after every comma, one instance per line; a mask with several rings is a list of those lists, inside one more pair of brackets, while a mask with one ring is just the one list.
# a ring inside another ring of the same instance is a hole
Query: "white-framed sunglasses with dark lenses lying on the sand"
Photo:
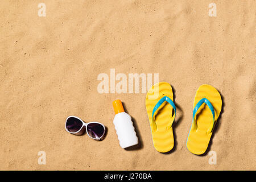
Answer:
[[82, 135], [86, 130], [86, 133], [90, 138], [100, 140], [105, 134], [105, 126], [98, 122], [85, 123], [82, 119], [69, 116], [66, 120], [65, 129], [68, 133], [74, 135]]

